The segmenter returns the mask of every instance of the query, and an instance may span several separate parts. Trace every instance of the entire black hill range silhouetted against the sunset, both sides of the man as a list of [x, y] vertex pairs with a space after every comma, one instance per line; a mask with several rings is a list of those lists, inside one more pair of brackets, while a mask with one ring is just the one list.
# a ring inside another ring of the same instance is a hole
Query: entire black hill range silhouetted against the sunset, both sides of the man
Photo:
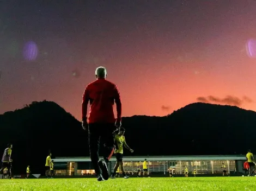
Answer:
[[[254, 148], [256, 112], [236, 106], [194, 103], [164, 117], [123, 117], [124, 155], [231, 155]], [[0, 149], [13, 143], [14, 171], [31, 165], [44, 173], [48, 150], [54, 156], [89, 156], [88, 132], [52, 101], [33, 102], [0, 115]]]

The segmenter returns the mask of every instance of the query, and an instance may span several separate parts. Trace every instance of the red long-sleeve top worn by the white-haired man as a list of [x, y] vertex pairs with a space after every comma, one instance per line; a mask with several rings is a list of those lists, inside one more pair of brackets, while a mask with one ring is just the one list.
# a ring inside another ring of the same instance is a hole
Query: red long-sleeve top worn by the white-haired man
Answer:
[[118, 87], [99, 78], [86, 86], [82, 101], [82, 119], [86, 120], [90, 101], [88, 123], [115, 123], [114, 103], [117, 105], [117, 121], [121, 121], [121, 100]]

